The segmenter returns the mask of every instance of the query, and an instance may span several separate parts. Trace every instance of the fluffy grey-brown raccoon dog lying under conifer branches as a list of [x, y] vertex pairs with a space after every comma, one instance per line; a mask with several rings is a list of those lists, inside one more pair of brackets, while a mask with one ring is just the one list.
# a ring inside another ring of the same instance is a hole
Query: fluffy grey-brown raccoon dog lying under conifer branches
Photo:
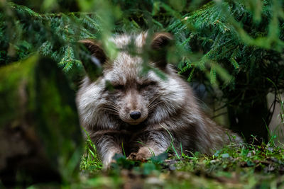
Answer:
[[[121, 49], [115, 59], [109, 59], [98, 42], [80, 41], [91, 52], [93, 62], [102, 64], [103, 71], [94, 79], [89, 73], [92, 65], [83, 61], [87, 76], [77, 93], [81, 124], [105, 167], [114, 154], [123, 153], [122, 144], [129, 159], [144, 160], [172, 144], [176, 151], [182, 147], [184, 153], [211, 154], [231, 139], [241, 142], [240, 137], [229, 137], [232, 132], [202, 113], [190, 86], [168, 64], [166, 52], [172, 35], [117, 35], [111, 41]], [[126, 51], [129, 44], [138, 53]], [[148, 61], [139, 53], [147, 54]], [[145, 65], [152, 69], [142, 74]]]

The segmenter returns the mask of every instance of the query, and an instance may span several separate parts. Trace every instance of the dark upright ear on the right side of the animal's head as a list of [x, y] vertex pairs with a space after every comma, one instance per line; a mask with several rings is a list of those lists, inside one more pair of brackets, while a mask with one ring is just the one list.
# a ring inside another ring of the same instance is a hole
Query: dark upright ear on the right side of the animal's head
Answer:
[[173, 35], [170, 33], [155, 33], [151, 42], [151, 49], [153, 55], [151, 59], [160, 69], [165, 69], [167, 66], [167, 52], [168, 47], [173, 44]]

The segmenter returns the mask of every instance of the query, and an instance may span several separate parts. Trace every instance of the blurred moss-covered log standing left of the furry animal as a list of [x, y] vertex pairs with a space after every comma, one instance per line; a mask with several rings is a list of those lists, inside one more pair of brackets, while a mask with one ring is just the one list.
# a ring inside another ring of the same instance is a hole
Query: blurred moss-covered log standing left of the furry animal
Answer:
[[68, 182], [82, 153], [75, 93], [51, 59], [0, 67], [0, 185]]

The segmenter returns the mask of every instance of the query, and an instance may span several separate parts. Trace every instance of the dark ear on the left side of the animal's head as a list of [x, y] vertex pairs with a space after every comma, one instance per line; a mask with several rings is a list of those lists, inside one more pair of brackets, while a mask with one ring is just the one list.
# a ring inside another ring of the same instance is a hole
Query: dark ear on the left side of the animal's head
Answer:
[[[89, 79], [95, 80], [102, 74], [102, 64], [107, 61], [107, 56], [102, 45], [95, 40], [80, 40], [84, 50], [81, 50], [80, 59]], [[86, 52], [87, 51], [87, 52]]]

